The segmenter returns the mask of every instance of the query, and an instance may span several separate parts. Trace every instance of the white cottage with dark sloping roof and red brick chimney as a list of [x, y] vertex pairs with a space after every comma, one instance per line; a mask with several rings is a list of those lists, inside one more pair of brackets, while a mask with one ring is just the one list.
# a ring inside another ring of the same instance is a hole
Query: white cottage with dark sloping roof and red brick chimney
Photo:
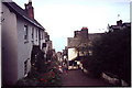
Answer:
[[34, 19], [32, 1], [25, 9], [15, 2], [2, 2], [2, 85], [11, 86], [28, 75], [33, 46], [43, 48], [45, 29]]

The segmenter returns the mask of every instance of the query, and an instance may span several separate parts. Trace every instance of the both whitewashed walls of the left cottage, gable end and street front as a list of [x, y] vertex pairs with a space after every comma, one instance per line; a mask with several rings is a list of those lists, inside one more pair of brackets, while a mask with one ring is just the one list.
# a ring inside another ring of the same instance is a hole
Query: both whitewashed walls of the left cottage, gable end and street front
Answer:
[[[28, 61], [28, 72], [31, 69], [31, 52], [33, 45], [38, 45], [38, 28], [34, 26], [24, 19], [16, 16], [13, 12], [2, 4], [2, 78], [7, 85], [13, 85], [18, 79], [23, 78], [24, 62]], [[24, 25], [28, 25], [28, 42], [24, 40]], [[34, 38], [32, 29], [34, 28]], [[41, 31], [41, 34], [44, 31]], [[37, 34], [37, 37], [36, 37]], [[43, 34], [43, 36], [45, 36]], [[42, 37], [42, 36], [41, 36]], [[34, 42], [34, 43], [33, 43]], [[45, 37], [41, 38], [42, 43]]]

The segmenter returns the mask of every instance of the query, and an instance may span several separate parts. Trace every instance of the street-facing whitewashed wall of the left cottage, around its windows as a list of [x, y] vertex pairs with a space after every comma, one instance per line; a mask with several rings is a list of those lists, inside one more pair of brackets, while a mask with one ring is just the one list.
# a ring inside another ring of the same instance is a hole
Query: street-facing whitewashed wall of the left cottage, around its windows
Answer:
[[[28, 42], [25, 43], [24, 40], [24, 25], [28, 25]], [[34, 38], [32, 38], [32, 29], [34, 29]], [[30, 72], [31, 68], [31, 51], [33, 45], [38, 45], [38, 28], [34, 26], [33, 24], [26, 22], [25, 20], [22, 20], [18, 18], [18, 77], [22, 78], [24, 77], [24, 62], [28, 61], [28, 72]], [[41, 31], [41, 34], [44, 31]], [[37, 33], [37, 37], [36, 37]], [[44, 34], [43, 34], [44, 35]], [[41, 36], [42, 37], [42, 36]], [[41, 47], [42, 44], [45, 42], [45, 38], [41, 38]]]

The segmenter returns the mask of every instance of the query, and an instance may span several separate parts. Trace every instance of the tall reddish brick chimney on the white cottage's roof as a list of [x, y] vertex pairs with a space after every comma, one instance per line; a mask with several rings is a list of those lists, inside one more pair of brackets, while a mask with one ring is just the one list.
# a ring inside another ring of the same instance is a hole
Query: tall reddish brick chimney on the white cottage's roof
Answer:
[[32, 0], [29, 0], [29, 3], [25, 3], [24, 6], [29, 18], [34, 19], [34, 8], [32, 7]]

